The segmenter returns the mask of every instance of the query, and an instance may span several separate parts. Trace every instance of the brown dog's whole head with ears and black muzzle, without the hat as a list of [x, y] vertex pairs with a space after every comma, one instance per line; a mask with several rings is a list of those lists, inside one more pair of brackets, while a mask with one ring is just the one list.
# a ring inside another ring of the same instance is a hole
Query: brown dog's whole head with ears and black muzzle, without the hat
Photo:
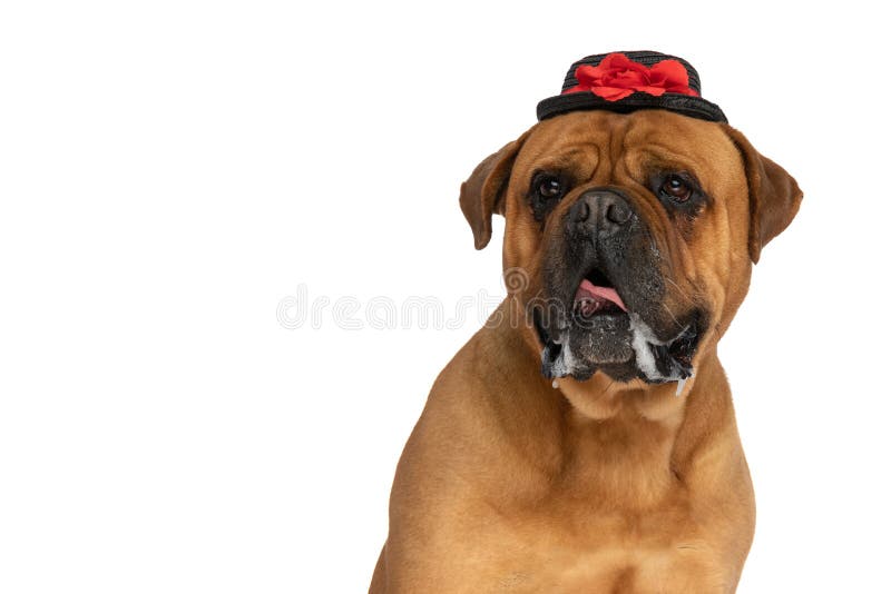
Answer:
[[[664, 110], [576, 111], [487, 158], [461, 188], [477, 248], [506, 216], [506, 274], [542, 373], [681, 380], [740, 306], [801, 201], [736, 130]], [[516, 285], [511, 287], [510, 285]]]

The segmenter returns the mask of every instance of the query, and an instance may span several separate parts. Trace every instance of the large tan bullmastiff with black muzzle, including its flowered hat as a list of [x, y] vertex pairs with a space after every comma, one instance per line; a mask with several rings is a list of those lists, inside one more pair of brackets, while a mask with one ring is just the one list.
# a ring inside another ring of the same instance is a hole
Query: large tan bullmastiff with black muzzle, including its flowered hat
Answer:
[[564, 88], [461, 187], [478, 249], [506, 218], [508, 296], [409, 437], [371, 593], [736, 590], [755, 502], [716, 346], [802, 192], [679, 58]]

